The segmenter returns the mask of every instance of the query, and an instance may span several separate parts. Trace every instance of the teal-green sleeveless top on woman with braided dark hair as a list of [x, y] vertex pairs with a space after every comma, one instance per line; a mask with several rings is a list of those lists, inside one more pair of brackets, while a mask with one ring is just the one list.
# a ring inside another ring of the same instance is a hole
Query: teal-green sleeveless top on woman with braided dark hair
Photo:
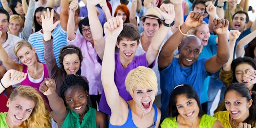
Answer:
[[88, 104], [87, 107], [89, 110], [83, 116], [81, 124], [79, 114], [67, 107], [67, 109], [69, 109], [69, 113], [60, 128], [96, 128], [96, 110], [91, 108]]

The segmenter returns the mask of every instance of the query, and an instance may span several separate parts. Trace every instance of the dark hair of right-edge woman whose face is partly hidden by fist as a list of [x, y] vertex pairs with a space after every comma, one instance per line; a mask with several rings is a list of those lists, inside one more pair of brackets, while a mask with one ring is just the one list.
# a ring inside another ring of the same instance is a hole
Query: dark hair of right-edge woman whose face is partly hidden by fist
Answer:
[[[244, 57], [244, 58], [234, 59], [231, 63], [231, 67], [232, 67], [232, 71], [233, 71], [233, 82], [238, 82], [235, 78], [235, 68], [238, 65], [243, 64], [243, 63], [251, 65], [254, 68], [254, 70], [256, 70], [256, 61], [253, 58]], [[252, 91], [256, 91], [256, 84], [254, 84]]]

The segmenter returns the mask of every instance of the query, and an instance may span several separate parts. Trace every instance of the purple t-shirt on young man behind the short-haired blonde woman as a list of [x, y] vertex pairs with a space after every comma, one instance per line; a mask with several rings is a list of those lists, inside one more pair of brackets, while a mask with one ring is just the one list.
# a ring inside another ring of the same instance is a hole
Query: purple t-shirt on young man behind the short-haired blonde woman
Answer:
[[[97, 60], [99, 63], [102, 64], [102, 60], [97, 56]], [[119, 95], [125, 100], [129, 101], [132, 100], [132, 97], [130, 94], [126, 91], [125, 87], [125, 79], [130, 70], [136, 69], [139, 66], [145, 66], [147, 68], [153, 68], [155, 65], [155, 61], [148, 66], [148, 62], [146, 59], [146, 53], [141, 54], [140, 56], [134, 56], [132, 62], [126, 67], [123, 68], [120, 60], [119, 60], [119, 53], [115, 53], [115, 78], [114, 81], [116, 83], [116, 87], [118, 90]], [[103, 93], [101, 95], [100, 104], [99, 104], [99, 110], [107, 115], [111, 115], [111, 110], [106, 102], [105, 93], [103, 90]]]

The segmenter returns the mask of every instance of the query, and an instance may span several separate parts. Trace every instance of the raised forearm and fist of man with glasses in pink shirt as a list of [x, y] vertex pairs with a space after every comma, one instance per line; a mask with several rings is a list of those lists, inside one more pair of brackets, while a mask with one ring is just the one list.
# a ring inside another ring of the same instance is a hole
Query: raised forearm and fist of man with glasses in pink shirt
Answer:
[[70, 3], [70, 15], [69, 15], [69, 21], [68, 21], [68, 27], [67, 27], [67, 36], [69, 40], [74, 40], [75, 35], [75, 12], [78, 8], [78, 0], [73, 0]]

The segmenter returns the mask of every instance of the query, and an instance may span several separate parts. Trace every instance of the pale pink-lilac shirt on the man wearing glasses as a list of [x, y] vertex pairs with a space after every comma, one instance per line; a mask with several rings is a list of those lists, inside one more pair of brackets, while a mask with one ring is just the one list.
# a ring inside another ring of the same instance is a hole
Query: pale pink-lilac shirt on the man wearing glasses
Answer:
[[97, 61], [97, 53], [92, 43], [86, 40], [82, 35], [77, 34], [72, 41], [67, 37], [67, 41], [70, 45], [79, 47], [82, 51], [81, 76], [85, 76], [89, 81], [90, 95], [101, 94], [103, 91], [101, 83], [101, 65]]

